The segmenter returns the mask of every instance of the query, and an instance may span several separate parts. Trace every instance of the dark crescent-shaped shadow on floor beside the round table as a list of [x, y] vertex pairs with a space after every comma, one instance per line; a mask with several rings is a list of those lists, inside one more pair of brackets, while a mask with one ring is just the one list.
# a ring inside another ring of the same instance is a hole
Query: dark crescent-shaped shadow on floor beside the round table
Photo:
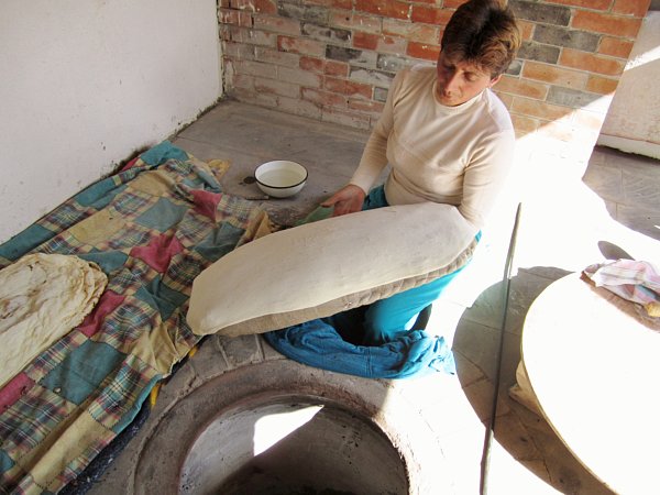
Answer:
[[[504, 332], [492, 324], [504, 321], [503, 305], [493, 301], [504, 301], [506, 284], [501, 282], [484, 290], [472, 308], [463, 314], [457, 328], [453, 351], [458, 375], [466, 398], [488, 428], [497, 387], [499, 339], [503, 338], [494, 442], [563, 494], [612, 495], [613, 492], [573, 457], [539, 414], [509, 396], [509, 388], [516, 383], [525, 316], [546, 287], [569, 273], [554, 267], [532, 267], [513, 276]], [[490, 326], [480, 323], [486, 319]], [[480, 340], [479, 344], [475, 344], [476, 340]], [[558, 356], [558, 365], [561, 365], [561, 356]], [[475, 367], [480, 371], [476, 375]], [[475, 386], [477, 383], [479, 386]]]

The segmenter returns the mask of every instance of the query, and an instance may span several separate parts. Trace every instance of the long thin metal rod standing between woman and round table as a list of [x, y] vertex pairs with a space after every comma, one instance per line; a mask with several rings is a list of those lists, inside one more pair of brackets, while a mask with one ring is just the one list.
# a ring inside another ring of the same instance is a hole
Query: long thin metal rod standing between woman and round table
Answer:
[[512, 232], [512, 239], [509, 241], [508, 253], [506, 255], [506, 263], [504, 266], [504, 276], [503, 276], [503, 315], [502, 315], [502, 326], [499, 329], [499, 349], [497, 351], [497, 365], [495, 370], [495, 391], [493, 393], [493, 405], [491, 408], [491, 421], [488, 427], [486, 428], [485, 439], [484, 439], [484, 450], [482, 454], [482, 466], [481, 466], [481, 486], [480, 494], [486, 495], [488, 493], [488, 470], [491, 466], [491, 444], [493, 442], [493, 435], [495, 431], [495, 417], [497, 416], [497, 399], [499, 397], [499, 382], [502, 374], [502, 355], [504, 352], [504, 329], [506, 328], [506, 317], [508, 314], [508, 301], [509, 301], [509, 292], [512, 286], [512, 271], [514, 264], [514, 254], [516, 252], [516, 240], [518, 238], [518, 226], [520, 223], [520, 211], [522, 209], [522, 204], [518, 204], [518, 208], [516, 210], [516, 219], [514, 221], [514, 230]]

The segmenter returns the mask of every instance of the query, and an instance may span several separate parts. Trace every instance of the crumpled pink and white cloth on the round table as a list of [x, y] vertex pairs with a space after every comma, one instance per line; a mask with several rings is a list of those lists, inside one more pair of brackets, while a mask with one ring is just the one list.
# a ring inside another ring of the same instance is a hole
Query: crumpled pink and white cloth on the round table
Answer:
[[660, 317], [660, 271], [651, 263], [634, 260], [607, 261], [587, 266], [583, 274], [596, 287], [603, 287], [624, 299], [644, 306], [650, 317]]

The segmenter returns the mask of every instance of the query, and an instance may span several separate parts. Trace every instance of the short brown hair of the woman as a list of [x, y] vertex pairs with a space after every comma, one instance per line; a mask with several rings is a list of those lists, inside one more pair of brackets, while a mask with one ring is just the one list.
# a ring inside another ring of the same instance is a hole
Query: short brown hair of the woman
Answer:
[[506, 1], [469, 0], [449, 20], [440, 44], [449, 58], [475, 64], [494, 78], [516, 57], [520, 33]]

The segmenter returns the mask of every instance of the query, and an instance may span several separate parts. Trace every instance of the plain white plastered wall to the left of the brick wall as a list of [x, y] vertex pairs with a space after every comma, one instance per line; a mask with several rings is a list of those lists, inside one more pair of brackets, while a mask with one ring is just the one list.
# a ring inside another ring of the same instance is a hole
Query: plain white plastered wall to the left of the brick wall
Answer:
[[0, 2], [0, 242], [221, 96], [216, 0]]

